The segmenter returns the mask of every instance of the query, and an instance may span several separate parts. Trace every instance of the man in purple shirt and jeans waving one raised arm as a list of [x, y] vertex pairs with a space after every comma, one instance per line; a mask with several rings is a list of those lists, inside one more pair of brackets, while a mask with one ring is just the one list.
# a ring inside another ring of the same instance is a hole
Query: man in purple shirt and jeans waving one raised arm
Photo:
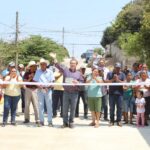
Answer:
[[[58, 68], [64, 75], [63, 82], [65, 83], [72, 83], [72, 86], [64, 86], [64, 94], [63, 94], [63, 126], [65, 127], [74, 127], [74, 117], [75, 117], [75, 110], [76, 110], [76, 104], [78, 100], [78, 92], [79, 87], [76, 85], [79, 82], [84, 82], [84, 79], [82, 77], [82, 74], [76, 70], [78, 61], [76, 59], [70, 60], [70, 67], [65, 68], [61, 65], [59, 65], [56, 61], [56, 54], [50, 54], [50, 56], [55, 59], [55, 66]], [[69, 112], [69, 106], [70, 106], [70, 116], [68, 118], [68, 112]]]

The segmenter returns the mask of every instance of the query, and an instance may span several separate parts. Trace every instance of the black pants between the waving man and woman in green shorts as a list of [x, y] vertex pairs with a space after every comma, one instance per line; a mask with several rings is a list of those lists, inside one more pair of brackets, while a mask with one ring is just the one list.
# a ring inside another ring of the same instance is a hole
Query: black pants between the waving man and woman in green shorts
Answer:
[[88, 114], [88, 103], [87, 103], [87, 98], [86, 98], [86, 92], [85, 91], [79, 91], [78, 102], [77, 102], [77, 106], [76, 106], [76, 114], [75, 115], [76, 116], [79, 115], [80, 98], [82, 98], [83, 105], [84, 105], [84, 116], [86, 116]]

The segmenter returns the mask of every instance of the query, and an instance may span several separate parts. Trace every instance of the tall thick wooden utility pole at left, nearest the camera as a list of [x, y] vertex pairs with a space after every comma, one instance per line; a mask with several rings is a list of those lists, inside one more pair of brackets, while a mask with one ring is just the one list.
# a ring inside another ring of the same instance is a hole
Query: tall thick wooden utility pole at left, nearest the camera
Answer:
[[19, 20], [18, 20], [18, 11], [16, 12], [16, 32], [15, 32], [15, 46], [16, 46], [16, 69], [18, 68], [18, 56], [19, 56], [19, 52], [18, 52], [18, 35], [19, 35]]

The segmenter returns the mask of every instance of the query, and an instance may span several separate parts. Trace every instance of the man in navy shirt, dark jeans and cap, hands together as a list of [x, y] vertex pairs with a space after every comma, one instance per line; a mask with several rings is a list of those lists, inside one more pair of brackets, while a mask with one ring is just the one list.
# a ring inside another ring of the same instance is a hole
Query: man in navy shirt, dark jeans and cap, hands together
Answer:
[[[106, 81], [108, 83], [122, 83], [125, 78], [125, 74], [121, 72], [121, 64], [116, 63], [114, 71], [108, 73]], [[122, 126], [122, 100], [123, 86], [109, 86], [110, 126], [114, 125], [115, 105], [117, 107], [117, 125]]]

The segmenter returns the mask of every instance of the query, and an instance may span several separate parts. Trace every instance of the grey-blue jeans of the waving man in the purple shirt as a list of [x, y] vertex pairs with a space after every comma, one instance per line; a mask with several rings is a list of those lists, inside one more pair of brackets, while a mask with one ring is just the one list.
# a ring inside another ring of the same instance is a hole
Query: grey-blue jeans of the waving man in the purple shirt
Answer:
[[[66, 92], [63, 94], [63, 123], [68, 124], [74, 122], [75, 110], [78, 100], [78, 92]], [[70, 116], [68, 118], [70, 106]]]

